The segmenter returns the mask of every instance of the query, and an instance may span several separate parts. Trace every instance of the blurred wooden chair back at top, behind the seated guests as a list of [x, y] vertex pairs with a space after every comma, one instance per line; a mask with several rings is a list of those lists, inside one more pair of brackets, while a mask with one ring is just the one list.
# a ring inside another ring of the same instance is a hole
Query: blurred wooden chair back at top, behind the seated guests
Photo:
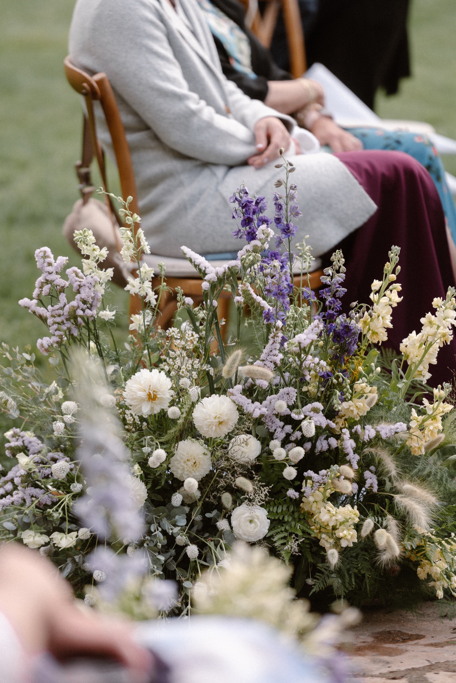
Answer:
[[[280, 7], [284, 17], [286, 42], [289, 48], [290, 72], [299, 79], [306, 71], [306, 46], [302, 29], [301, 14], [297, 0], [267, 0], [263, 16], [258, 10], [257, 0], [242, 0], [248, 14], [254, 14], [251, 29], [260, 43], [271, 47], [272, 37], [278, 20]], [[256, 12], [252, 12], [256, 5]]]

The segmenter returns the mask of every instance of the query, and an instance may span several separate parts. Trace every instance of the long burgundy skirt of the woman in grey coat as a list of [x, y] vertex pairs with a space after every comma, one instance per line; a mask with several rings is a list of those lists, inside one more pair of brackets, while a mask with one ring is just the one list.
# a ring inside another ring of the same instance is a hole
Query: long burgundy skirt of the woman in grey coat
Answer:
[[[355, 176], [378, 209], [364, 225], [334, 249], [345, 255], [347, 275], [343, 308], [351, 301], [370, 303], [371, 283], [381, 280], [388, 251], [401, 247], [398, 282], [403, 301], [392, 311], [390, 346], [399, 352], [402, 339], [421, 329], [420, 318], [434, 312], [435, 296], [445, 298], [454, 286], [442, 204], [429, 173], [403, 152], [370, 150], [336, 154]], [[334, 250], [332, 250], [334, 251]], [[429, 367], [429, 383], [452, 382], [456, 372], [456, 340], [439, 350]]]

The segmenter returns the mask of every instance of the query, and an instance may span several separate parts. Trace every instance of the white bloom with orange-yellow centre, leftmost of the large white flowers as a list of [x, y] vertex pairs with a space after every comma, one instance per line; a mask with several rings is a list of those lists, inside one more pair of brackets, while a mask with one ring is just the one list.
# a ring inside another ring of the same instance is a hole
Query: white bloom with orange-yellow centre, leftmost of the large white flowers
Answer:
[[171, 380], [157, 368], [143, 368], [126, 382], [124, 399], [135, 415], [155, 415], [170, 404]]

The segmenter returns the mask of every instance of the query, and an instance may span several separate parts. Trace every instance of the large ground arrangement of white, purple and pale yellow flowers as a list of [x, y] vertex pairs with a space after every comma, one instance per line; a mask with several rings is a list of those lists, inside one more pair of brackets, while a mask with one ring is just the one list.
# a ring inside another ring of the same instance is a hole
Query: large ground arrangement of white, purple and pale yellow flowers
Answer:
[[[202, 571], [223, 574], [235, 540], [294, 566], [284, 571], [300, 596], [362, 604], [404, 585], [456, 596], [451, 386], [425, 384], [453, 337], [455, 291], [433, 301], [401, 356], [380, 354], [401, 303], [399, 249], [373, 281], [371, 303], [341, 313], [343, 254], [316, 295], [310, 248], [291, 247], [294, 169], [284, 158], [278, 167], [273, 219], [245, 186], [230, 197], [233, 234], [245, 240], [237, 260], [214, 268], [182, 248], [203, 300], [178, 290], [166, 331], [164, 268], [157, 279], [144, 262], [131, 198], [116, 198], [122, 257], [137, 264], [126, 290], [142, 297], [124, 348], [105, 303], [107, 253], [92, 233], [75, 233], [82, 270], [69, 268], [67, 279], [65, 257], [36, 252], [42, 275], [19, 303], [49, 329], [37, 346], [55, 377], [42, 378], [31, 347], [3, 345], [12, 467], [0, 479], [1, 533], [51, 557], [88, 604], [118, 599], [146, 574], [165, 581], [155, 587], [162, 613], [211, 611]], [[235, 315], [224, 340], [217, 300], [226, 290]]]

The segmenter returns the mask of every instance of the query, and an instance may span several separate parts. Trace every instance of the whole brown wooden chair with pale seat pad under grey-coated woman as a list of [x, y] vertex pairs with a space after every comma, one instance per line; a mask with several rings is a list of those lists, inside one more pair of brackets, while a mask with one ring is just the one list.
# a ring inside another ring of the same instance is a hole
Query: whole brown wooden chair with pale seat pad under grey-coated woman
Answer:
[[[66, 57], [64, 60], [64, 68], [68, 83], [70, 83], [72, 88], [74, 88], [77, 93], [82, 95], [85, 100], [87, 107], [87, 119], [85, 120], [84, 126], [86, 137], [85, 142], [88, 143], [88, 140], [90, 139], [90, 142], [92, 143], [92, 152], [96, 156], [96, 161], [100, 169], [105, 191], [108, 189], [105, 169], [105, 156], [96, 133], [94, 101], [100, 102], [101, 108], [103, 109], [103, 113], [105, 115], [109, 134], [111, 135], [111, 142], [118, 167], [122, 197], [124, 199], [129, 196], [133, 197], [133, 201], [131, 201], [130, 204], [131, 210], [132, 212], [139, 214], [135, 174], [133, 172], [133, 164], [131, 163], [129, 145], [126, 141], [125, 130], [122, 124], [122, 119], [120, 118], [116, 98], [114, 97], [113, 90], [107, 75], [103, 72], [100, 72], [94, 76], [90, 76], [81, 69], [75, 67], [71, 63], [69, 57]], [[83, 147], [87, 148], [87, 144], [83, 145]], [[84, 191], [92, 193], [93, 191], [92, 186], [90, 186], [90, 182], [88, 182], [90, 179], [90, 169], [88, 168], [90, 161], [92, 161], [92, 156], [90, 154], [83, 154], [83, 161], [78, 162], [76, 165], [79, 180], [81, 181], [80, 187], [82, 193], [84, 193]], [[118, 220], [118, 223], [121, 224], [116, 212], [116, 208], [113, 206], [109, 198], [107, 201], [109, 201], [109, 208], [113, 212], [113, 215]], [[166, 284], [170, 290], [172, 290], [171, 292], [167, 292], [165, 296], [162, 296], [160, 303], [161, 316], [158, 322], [163, 329], [167, 329], [167, 327], [172, 324], [172, 318], [177, 310], [176, 288], [180, 287], [185, 296], [190, 296], [193, 298], [195, 303], [199, 303], [202, 301], [202, 279], [199, 273], [185, 259], [167, 259], [166, 257], [161, 256], [156, 256], [154, 259], [156, 259], [157, 262], [163, 261], [165, 263], [166, 273], [168, 273], [166, 277]], [[217, 265], [219, 264], [217, 263]], [[316, 290], [321, 286], [321, 275], [323, 275], [322, 270], [316, 270], [314, 273], [310, 273], [310, 286], [312, 290]], [[158, 277], [152, 280], [152, 288], [157, 287], [157, 285], [159, 285]], [[223, 292], [219, 298], [219, 305], [217, 307], [219, 320], [222, 320], [222, 318], [228, 320], [230, 298], [230, 292]], [[139, 296], [131, 296], [129, 305], [130, 316], [133, 315], [133, 313], [139, 313], [141, 309], [142, 303]], [[227, 328], [227, 325], [222, 328], [224, 335], [226, 335]]]

